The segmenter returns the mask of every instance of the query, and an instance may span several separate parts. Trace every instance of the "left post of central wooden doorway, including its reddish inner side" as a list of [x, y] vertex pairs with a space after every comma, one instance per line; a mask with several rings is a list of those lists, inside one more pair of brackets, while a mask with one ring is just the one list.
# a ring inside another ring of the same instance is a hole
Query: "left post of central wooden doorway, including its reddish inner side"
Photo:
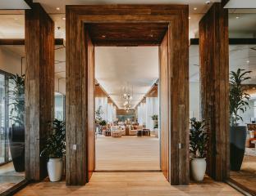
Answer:
[[94, 171], [94, 45], [66, 10], [66, 185], [85, 185]]

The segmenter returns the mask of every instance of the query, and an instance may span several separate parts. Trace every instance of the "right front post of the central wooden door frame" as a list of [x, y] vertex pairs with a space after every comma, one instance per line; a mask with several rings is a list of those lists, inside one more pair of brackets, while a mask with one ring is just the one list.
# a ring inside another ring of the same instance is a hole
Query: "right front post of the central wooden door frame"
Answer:
[[186, 6], [169, 27], [171, 185], [188, 185], [190, 182], [188, 17], [189, 7]]

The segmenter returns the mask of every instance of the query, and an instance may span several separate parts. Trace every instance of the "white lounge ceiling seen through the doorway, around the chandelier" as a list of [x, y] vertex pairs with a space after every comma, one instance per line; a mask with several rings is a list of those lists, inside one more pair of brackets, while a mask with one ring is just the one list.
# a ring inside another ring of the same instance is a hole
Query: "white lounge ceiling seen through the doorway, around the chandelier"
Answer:
[[96, 47], [95, 78], [120, 109], [120, 88], [132, 85], [133, 108], [158, 80], [158, 47]]

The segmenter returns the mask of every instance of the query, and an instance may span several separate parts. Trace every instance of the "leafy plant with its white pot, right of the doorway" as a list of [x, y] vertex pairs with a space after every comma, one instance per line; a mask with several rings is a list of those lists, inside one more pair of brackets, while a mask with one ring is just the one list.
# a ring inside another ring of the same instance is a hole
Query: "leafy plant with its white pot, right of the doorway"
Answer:
[[194, 180], [202, 181], [206, 171], [208, 133], [204, 120], [190, 119], [190, 168]]

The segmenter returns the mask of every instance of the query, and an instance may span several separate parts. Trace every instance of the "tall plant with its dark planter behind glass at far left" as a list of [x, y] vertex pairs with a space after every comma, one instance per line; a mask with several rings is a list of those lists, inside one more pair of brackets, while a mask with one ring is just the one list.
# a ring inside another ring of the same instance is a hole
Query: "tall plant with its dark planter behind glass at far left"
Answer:
[[15, 171], [25, 171], [25, 75], [10, 76], [8, 85], [11, 127], [8, 132]]

